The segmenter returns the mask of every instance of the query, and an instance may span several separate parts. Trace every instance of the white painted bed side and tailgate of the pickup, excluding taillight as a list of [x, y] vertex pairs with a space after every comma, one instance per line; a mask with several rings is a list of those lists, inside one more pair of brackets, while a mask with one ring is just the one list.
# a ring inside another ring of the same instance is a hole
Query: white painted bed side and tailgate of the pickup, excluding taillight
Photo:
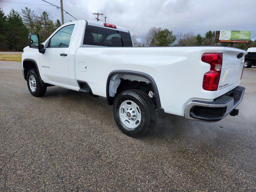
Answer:
[[[202, 62], [204, 53], [223, 53], [220, 88], [206, 91], [203, 76], [210, 65]], [[241, 58], [237, 55], [242, 53]], [[76, 77], [86, 81], [93, 94], [106, 97], [106, 82], [114, 70], [144, 72], [156, 82], [165, 112], [184, 115], [191, 100], [213, 101], [240, 84], [247, 52], [223, 46], [187, 47], [80, 47], [76, 52]], [[79, 66], [86, 63], [86, 72]], [[95, 73], [95, 71], [97, 71]]]

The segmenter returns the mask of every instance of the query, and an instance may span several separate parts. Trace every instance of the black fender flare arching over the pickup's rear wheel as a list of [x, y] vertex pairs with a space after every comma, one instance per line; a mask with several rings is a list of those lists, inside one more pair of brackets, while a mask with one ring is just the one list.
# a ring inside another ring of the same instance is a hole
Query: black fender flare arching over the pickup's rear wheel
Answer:
[[146, 78], [147, 80], [149, 80], [150, 83], [152, 84], [153, 89], [154, 89], [154, 93], [155, 93], [155, 97], [156, 97], [156, 106], [157, 106], [157, 109], [158, 109], [158, 110], [163, 110], [163, 108], [162, 108], [162, 106], [161, 106], [161, 101], [160, 101], [160, 97], [159, 97], [158, 88], [157, 88], [156, 82], [155, 82], [155, 80], [152, 78], [152, 76], [150, 76], [149, 74], [143, 73], [143, 72], [137, 72], [137, 71], [131, 71], [131, 70], [114, 70], [114, 71], [112, 71], [112, 72], [108, 75], [108, 80], [107, 80], [107, 85], [106, 85], [106, 97], [107, 97], [108, 105], [112, 105], [112, 104], [114, 103], [113, 99], [109, 96], [110, 78], [111, 78], [114, 74], [136, 75], [136, 76], [144, 77], [144, 78]]

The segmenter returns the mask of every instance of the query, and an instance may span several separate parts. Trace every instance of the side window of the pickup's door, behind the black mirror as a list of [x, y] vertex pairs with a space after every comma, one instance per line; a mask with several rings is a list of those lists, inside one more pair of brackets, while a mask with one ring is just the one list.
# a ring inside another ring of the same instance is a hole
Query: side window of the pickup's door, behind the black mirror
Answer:
[[68, 25], [58, 30], [50, 39], [48, 47], [68, 47], [74, 26], [74, 24]]

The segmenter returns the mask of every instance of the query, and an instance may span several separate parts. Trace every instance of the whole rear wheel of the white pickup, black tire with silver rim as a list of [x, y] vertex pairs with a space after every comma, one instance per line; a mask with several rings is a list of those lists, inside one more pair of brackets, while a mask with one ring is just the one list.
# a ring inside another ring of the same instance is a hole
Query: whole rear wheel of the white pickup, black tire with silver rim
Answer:
[[154, 126], [156, 109], [150, 97], [141, 90], [125, 90], [118, 94], [113, 107], [118, 128], [130, 137], [141, 137]]

